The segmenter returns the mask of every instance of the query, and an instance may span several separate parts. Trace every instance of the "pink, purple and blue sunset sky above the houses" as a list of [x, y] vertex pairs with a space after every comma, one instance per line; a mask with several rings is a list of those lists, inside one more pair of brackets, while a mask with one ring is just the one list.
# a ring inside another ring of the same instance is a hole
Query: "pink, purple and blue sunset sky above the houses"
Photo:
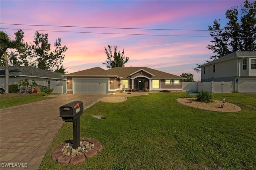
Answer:
[[[193, 68], [214, 55], [208, 26], [240, 0], [0, 0], [0, 28], [14, 39], [18, 30], [24, 42], [33, 42], [36, 30], [48, 34], [51, 50], [60, 38], [63, 66], [68, 73], [101, 67], [107, 69], [105, 48], [111, 45], [129, 57], [125, 67], [149, 67], [174, 75]], [[39, 26], [40, 25], [40, 26]], [[58, 26], [58, 27], [56, 27]], [[62, 27], [59, 27], [62, 26]], [[125, 29], [124, 29], [125, 28]], [[136, 28], [136, 29], [134, 29]]]

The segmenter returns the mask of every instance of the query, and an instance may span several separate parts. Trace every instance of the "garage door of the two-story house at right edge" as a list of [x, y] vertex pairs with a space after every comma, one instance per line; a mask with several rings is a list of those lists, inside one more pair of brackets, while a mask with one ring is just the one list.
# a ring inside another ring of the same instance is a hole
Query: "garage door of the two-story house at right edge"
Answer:
[[239, 79], [239, 92], [256, 92], [256, 80], [253, 79]]

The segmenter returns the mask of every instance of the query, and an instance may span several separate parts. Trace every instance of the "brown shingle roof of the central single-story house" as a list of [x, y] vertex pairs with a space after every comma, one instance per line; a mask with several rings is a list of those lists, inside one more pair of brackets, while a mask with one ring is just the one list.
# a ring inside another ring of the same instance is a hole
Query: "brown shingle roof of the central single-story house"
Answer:
[[108, 76], [118, 76], [118, 77], [123, 77], [123, 78], [127, 78], [130, 77], [131, 73], [134, 73], [136, 71], [139, 71], [140, 69], [144, 69], [145, 71], [148, 71], [149, 73], [152, 73], [153, 76], [152, 78], [177, 78], [177, 79], [184, 79], [184, 77], [180, 77], [177, 75], [173, 75], [170, 73], [166, 73], [163, 71], [158, 71], [155, 69], [150, 69], [148, 67], [114, 67], [112, 69], [108, 69], [108, 70], [104, 70], [100, 67], [94, 67], [91, 69], [86, 69], [83, 71], [78, 71], [75, 73], [70, 73], [68, 75], [70, 75], [70, 77], [72, 77], [72, 75], [81, 75], [81, 76], [90, 76], [90, 75], [108, 75]]

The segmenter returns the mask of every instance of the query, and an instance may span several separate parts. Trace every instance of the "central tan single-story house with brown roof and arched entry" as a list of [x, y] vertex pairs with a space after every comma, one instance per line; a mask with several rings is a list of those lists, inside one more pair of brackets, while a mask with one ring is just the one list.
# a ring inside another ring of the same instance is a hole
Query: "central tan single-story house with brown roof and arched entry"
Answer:
[[114, 67], [104, 70], [94, 67], [64, 75], [67, 77], [67, 93], [103, 93], [116, 91], [182, 91], [182, 79], [148, 67]]

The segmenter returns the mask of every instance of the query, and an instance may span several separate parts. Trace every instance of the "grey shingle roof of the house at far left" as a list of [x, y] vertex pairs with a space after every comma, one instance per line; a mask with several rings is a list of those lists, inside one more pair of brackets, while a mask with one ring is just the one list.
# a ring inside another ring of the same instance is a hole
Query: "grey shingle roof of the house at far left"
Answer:
[[[5, 75], [5, 67], [0, 68], [0, 75]], [[30, 76], [30, 77], [44, 77], [52, 79], [66, 79], [61, 75], [62, 73], [55, 73], [51, 71], [42, 70], [36, 67], [28, 66], [9, 66], [9, 76]]]

